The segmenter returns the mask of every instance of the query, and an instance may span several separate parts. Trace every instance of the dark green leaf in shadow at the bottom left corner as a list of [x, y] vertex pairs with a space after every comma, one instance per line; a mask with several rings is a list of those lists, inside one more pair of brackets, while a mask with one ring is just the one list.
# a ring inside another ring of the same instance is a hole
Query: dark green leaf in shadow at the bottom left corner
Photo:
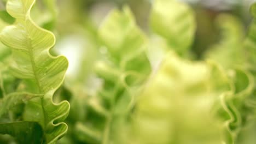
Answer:
[[36, 122], [0, 123], [0, 134], [14, 136], [19, 143], [43, 143], [43, 129]]

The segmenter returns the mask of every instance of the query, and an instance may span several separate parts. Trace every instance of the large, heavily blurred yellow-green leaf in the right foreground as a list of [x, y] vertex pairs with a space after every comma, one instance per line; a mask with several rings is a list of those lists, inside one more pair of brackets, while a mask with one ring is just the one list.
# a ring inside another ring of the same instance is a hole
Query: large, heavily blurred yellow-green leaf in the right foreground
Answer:
[[207, 63], [168, 53], [137, 101], [133, 143], [221, 143], [222, 122], [211, 111], [225, 89], [214, 91], [211, 73]]

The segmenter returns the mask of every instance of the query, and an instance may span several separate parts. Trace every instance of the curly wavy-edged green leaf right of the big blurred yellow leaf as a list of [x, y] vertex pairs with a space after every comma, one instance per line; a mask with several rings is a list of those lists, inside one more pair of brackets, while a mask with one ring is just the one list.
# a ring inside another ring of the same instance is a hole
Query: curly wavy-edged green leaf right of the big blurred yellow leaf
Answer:
[[247, 125], [255, 123], [255, 119], [252, 119], [255, 106], [248, 105], [252, 101], [254, 80], [248, 71], [241, 69], [235, 69], [230, 78], [234, 86], [220, 96], [222, 108], [218, 113], [225, 122], [224, 141], [226, 143], [243, 143], [241, 140], [244, 139], [245, 128]]

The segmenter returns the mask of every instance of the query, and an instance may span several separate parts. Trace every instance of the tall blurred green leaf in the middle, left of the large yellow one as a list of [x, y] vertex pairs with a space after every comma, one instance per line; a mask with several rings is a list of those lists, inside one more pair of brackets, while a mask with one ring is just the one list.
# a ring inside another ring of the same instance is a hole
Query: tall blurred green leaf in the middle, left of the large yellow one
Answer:
[[[148, 41], [128, 7], [110, 11], [98, 29], [98, 38], [102, 49], [107, 50], [94, 67], [102, 87], [88, 99], [88, 118], [82, 129], [76, 129], [82, 132], [78, 137], [81, 141], [107, 144], [119, 139], [123, 119], [132, 110], [134, 97], [151, 68], [146, 54]], [[100, 134], [96, 136], [95, 131]]]

